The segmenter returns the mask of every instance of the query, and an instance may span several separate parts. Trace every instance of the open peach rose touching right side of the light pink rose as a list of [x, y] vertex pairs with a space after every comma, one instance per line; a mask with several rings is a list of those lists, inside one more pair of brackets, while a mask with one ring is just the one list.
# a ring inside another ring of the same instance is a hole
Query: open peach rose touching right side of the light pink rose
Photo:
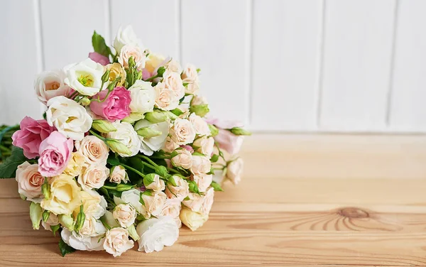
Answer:
[[84, 136], [75, 141], [75, 148], [80, 151], [88, 165], [107, 165], [108, 146], [96, 136]]

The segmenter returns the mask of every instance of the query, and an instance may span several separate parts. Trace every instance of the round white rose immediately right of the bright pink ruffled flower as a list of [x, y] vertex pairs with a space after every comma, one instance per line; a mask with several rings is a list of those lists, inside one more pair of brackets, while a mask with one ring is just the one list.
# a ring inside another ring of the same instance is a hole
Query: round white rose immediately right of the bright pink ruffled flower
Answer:
[[136, 82], [129, 88], [130, 91], [130, 109], [132, 112], [145, 114], [154, 109], [155, 104], [155, 90], [151, 82], [143, 80], [136, 80]]

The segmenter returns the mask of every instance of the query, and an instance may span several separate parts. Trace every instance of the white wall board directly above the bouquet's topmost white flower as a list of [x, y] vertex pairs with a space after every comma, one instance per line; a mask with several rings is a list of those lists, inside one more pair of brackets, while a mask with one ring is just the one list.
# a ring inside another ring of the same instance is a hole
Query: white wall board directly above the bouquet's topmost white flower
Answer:
[[131, 24], [146, 48], [179, 58], [178, 12], [178, 0], [111, 0], [111, 38]]

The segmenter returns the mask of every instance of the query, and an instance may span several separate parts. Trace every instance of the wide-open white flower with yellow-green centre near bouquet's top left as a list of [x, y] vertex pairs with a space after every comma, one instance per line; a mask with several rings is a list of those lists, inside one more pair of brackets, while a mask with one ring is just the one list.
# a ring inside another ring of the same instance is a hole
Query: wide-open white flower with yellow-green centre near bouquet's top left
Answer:
[[[64, 80], [65, 84], [80, 94], [92, 97], [101, 91], [102, 75], [104, 75], [105, 71], [104, 66], [99, 63], [87, 58], [80, 63], [68, 65], [64, 70], [67, 73], [67, 77]], [[104, 88], [108, 84], [106, 82]]]

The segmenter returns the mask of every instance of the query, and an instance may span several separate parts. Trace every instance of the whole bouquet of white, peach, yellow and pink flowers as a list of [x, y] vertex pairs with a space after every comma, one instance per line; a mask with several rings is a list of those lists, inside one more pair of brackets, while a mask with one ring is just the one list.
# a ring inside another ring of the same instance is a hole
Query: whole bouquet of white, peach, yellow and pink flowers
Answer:
[[[34, 82], [44, 119], [0, 128], [0, 178], [15, 178], [34, 229], [60, 233], [62, 256], [171, 246], [209, 218], [214, 191], [239, 182], [239, 123], [208, 117], [200, 70], [143, 48], [131, 26], [113, 47]], [[13, 133], [13, 135], [12, 135]], [[11, 146], [13, 144], [13, 146]]]

